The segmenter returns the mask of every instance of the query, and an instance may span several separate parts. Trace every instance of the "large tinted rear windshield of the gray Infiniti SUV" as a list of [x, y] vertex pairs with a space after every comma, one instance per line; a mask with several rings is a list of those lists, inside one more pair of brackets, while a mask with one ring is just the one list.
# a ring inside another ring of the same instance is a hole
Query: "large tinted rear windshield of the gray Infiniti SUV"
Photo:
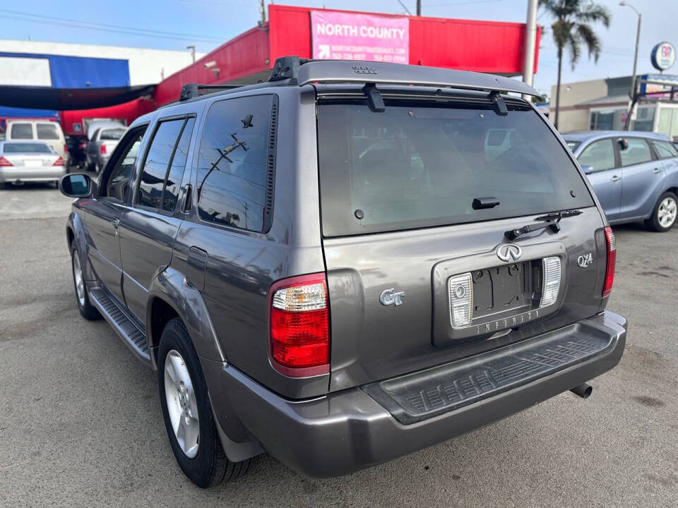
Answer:
[[[593, 200], [566, 150], [531, 109], [320, 104], [323, 234], [460, 224]], [[474, 198], [499, 205], [474, 210]]]

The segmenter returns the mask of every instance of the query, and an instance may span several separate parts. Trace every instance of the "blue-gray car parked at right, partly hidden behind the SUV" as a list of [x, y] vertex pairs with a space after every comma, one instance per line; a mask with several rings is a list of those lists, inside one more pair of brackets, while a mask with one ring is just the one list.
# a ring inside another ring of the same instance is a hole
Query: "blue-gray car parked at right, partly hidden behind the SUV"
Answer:
[[669, 231], [678, 214], [678, 150], [667, 136], [586, 131], [563, 135], [610, 224], [643, 221]]

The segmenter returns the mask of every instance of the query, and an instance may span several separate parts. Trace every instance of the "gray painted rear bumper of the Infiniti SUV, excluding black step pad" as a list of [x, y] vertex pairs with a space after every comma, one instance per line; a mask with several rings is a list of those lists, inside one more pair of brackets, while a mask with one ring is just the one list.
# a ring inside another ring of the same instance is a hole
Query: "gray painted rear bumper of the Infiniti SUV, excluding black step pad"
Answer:
[[[340, 476], [482, 427], [607, 372], [622, 358], [626, 320], [605, 312], [556, 333], [559, 337], [569, 334], [571, 339], [588, 334], [597, 341], [602, 336], [609, 340], [597, 353], [565, 363], [555, 372], [408, 424], [393, 416], [398, 413], [393, 407], [393, 413], [386, 409], [396, 403], [381, 400], [380, 404], [367, 393], [374, 391], [376, 383], [372, 390], [369, 386], [346, 389], [295, 402], [226, 366], [221, 372], [221, 390], [210, 389], [210, 394], [227, 394], [228, 404], [243, 425], [266, 451], [287, 466], [315, 478]], [[540, 341], [545, 336], [524, 342]], [[496, 358], [497, 351], [492, 353]]]

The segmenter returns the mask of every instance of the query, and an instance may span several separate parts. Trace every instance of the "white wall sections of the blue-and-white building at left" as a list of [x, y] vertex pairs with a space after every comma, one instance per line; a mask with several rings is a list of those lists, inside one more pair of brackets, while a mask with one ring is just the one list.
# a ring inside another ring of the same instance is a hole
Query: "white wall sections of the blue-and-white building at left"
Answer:
[[[145, 49], [119, 46], [95, 46], [93, 44], [67, 44], [64, 42], [38, 42], [0, 40], [0, 53], [58, 54], [64, 56], [89, 56], [92, 58], [122, 59], [129, 61], [130, 84], [148, 85], [159, 83], [162, 73], [165, 78], [193, 63], [191, 52], [167, 49]], [[196, 53], [196, 60], [205, 53]], [[25, 67], [20, 67], [25, 68]], [[12, 85], [43, 85], [25, 83], [32, 76], [17, 75], [16, 69], [0, 65], [0, 83]], [[9, 83], [9, 81], [13, 83]]]

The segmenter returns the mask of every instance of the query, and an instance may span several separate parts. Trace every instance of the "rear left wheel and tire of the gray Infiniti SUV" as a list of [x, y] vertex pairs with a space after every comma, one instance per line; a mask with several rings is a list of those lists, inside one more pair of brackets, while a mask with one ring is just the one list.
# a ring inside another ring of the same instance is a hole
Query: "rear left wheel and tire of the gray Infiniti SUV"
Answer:
[[157, 366], [162, 416], [172, 452], [184, 474], [201, 488], [243, 476], [251, 459], [227, 459], [198, 356], [179, 318], [169, 320], [162, 331]]

